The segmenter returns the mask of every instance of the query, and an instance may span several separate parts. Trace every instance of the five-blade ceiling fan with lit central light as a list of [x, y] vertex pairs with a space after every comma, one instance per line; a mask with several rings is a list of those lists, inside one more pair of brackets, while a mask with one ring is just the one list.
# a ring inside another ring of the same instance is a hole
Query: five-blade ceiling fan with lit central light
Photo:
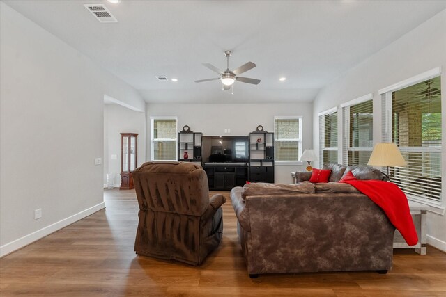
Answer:
[[231, 71], [229, 70], [229, 57], [231, 56], [231, 54], [232, 54], [231, 51], [224, 52], [224, 56], [226, 56], [227, 59], [227, 67], [225, 71], [222, 71], [209, 63], [203, 63], [204, 67], [209, 68], [213, 72], [217, 72], [218, 74], [220, 74], [220, 77], [217, 77], [215, 79], [200, 79], [195, 82], [203, 83], [204, 81], [217, 81], [220, 79], [220, 81], [222, 81], [223, 83], [223, 90], [229, 90], [234, 81], [240, 81], [242, 83], [252, 83], [254, 85], [258, 85], [260, 83], [260, 79], [249, 79], [247, 77], [238, 77], [238, 74], [242, 74], [243, 72], [251, 70], [252, 68], [256, 67], [256, 64], [248, 62], [236, 68], [235, 70]]

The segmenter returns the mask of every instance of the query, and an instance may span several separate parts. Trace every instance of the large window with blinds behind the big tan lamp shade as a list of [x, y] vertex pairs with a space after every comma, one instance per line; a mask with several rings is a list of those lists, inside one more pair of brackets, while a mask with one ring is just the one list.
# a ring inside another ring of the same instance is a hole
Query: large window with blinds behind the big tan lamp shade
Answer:
[[396, 143], [407, 163], [406, 167], [391, 168], [390, 180], [408, 197], [439, 202], [442, 183], [440, 77], [426, 79], [420, 74], [401, 85], [380, 90], [383, 141]]

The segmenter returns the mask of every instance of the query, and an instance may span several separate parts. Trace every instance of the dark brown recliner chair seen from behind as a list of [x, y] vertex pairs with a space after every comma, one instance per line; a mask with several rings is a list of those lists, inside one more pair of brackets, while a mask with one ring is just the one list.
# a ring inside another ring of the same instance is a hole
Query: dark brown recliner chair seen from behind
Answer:
[[138, 255], [199, 265], [222, 239], [223, 195], [209, 198], [206, 172], [194, 163], [146, 162], [132, 173], [139, 203]]

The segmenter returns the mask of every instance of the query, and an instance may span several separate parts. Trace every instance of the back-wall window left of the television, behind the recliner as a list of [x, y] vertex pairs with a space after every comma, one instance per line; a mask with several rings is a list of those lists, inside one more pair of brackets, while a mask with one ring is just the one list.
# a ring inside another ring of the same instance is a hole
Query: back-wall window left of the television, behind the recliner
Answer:
[[151, 118], [151, 160], [176, 161], [176, 118]]

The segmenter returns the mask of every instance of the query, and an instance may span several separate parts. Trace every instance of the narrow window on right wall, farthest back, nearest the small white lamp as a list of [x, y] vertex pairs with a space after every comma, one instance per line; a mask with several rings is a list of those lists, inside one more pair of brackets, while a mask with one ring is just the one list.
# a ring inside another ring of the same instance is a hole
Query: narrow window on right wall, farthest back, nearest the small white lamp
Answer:
[[321, 167], [337, 163], [337, 109], [319, 113], [319, 160]]

